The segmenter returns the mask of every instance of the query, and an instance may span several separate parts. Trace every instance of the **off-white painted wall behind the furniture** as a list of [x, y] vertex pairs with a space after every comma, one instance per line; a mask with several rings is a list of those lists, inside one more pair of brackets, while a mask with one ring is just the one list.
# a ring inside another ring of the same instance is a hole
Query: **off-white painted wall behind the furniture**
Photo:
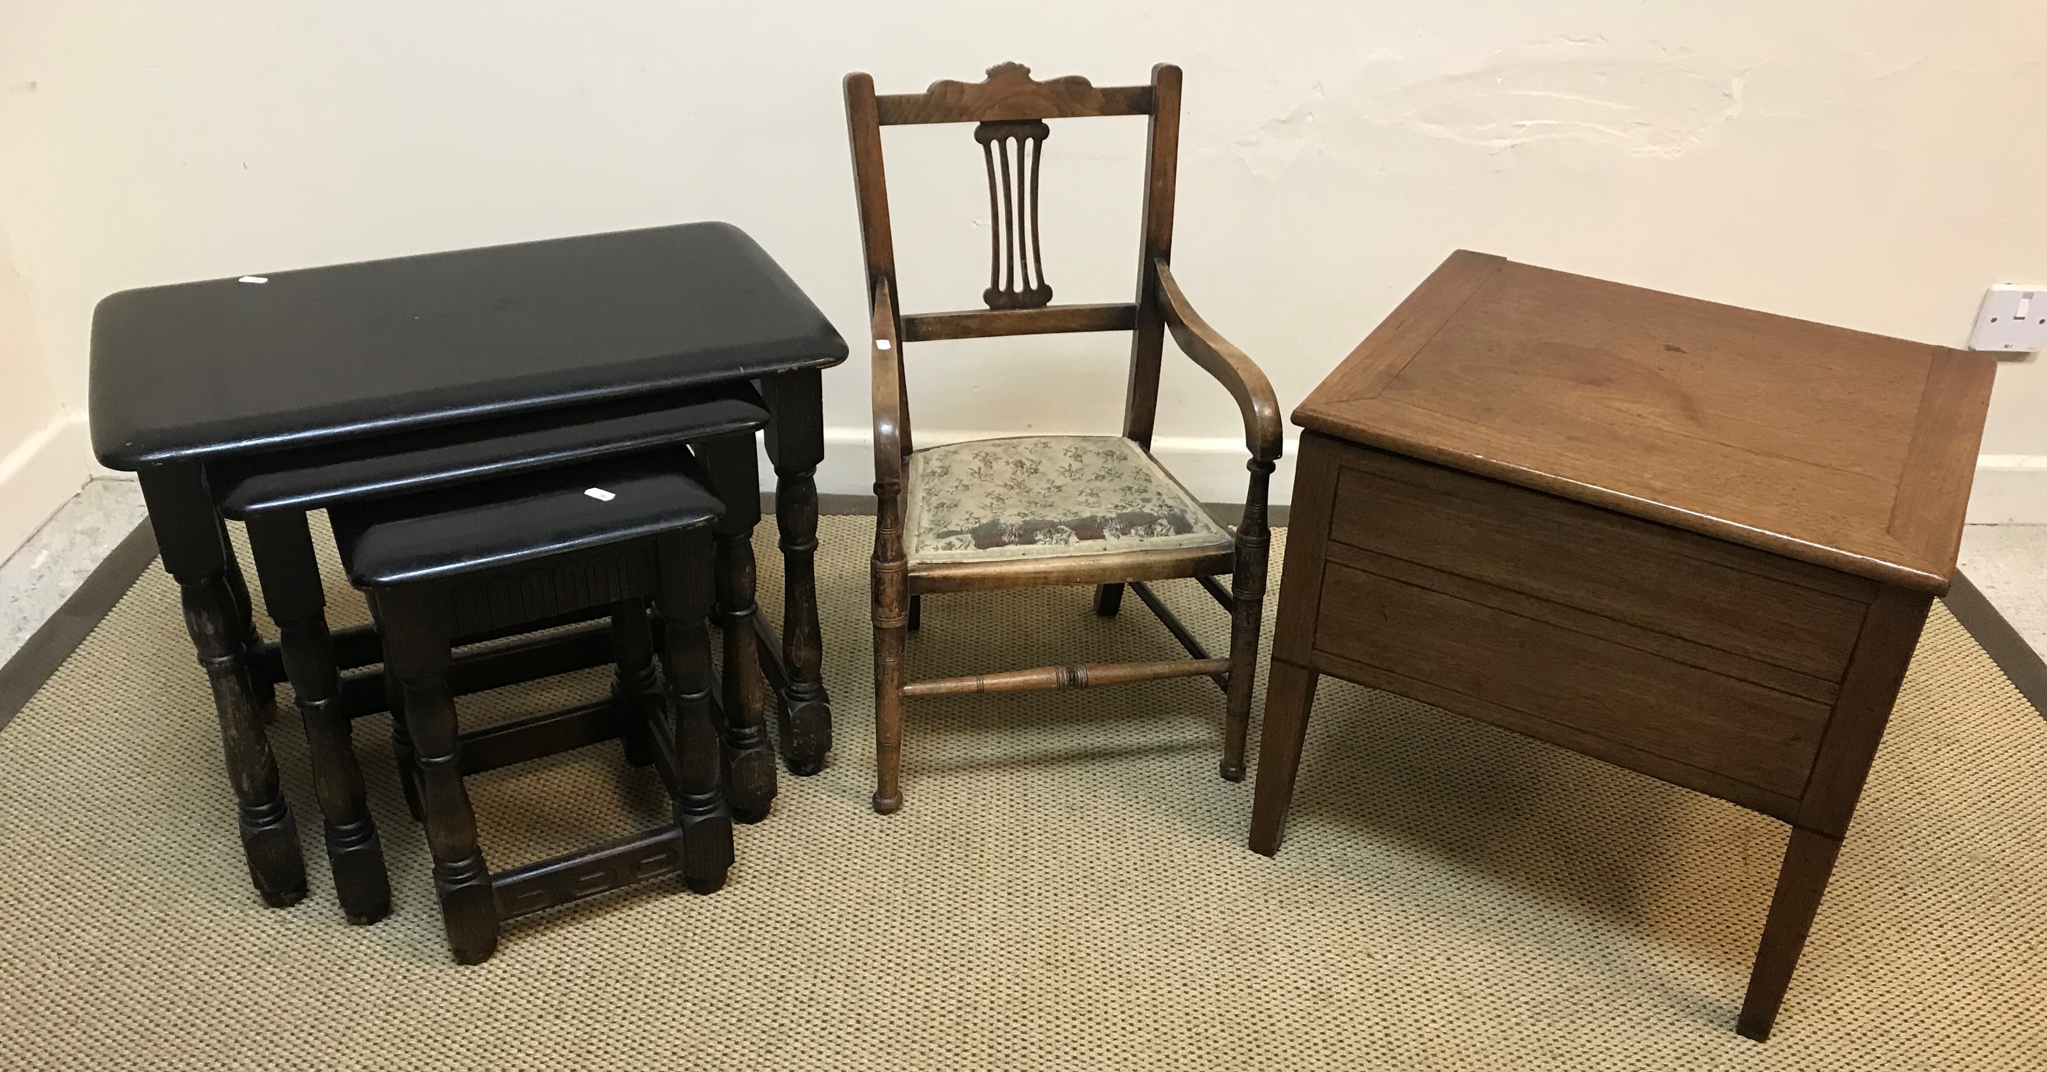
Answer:
[[[2037, 0], [0, 0], [0, 231], [59, 407], [84, 405], [92, 303], [123, 286], [688, 219], [751, 231], [858, 342], [843, 72], [903, 92], [1001, 59], [1097, 84], [1173, 59], [1175, 268], [1292, 407], [1460, 245], [1961, 344], [1986, 284], [2047, 282], [2041, 41]], [[1054, 125], [1060, 301], [1128, 299], [1140, 131]], [[886, 139], [905, 305], [974, 305], [966, 127]], [[911, 348], [919, 436], [1114, 430], [1124, 346]], [[2047, 368], [2004, 366], [1998, 473], [2047, 458], [2043, 413]], [[862, 360], [827, 376], [827, 419], [823, 489], [864, 491]], [[1240, 487], [1234, 428], [1169, 364], [1161, 436], [1206, 497]], [[2031, 473], [1998, 477], [1996, 509], [2047, 520]]]

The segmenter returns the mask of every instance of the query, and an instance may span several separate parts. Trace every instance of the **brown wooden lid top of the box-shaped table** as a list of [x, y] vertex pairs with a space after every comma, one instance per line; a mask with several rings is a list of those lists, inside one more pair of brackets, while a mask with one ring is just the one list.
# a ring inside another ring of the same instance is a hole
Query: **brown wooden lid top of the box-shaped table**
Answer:
[[1947, 591], [1994, 360], [1460, 250], [1294, 423]]

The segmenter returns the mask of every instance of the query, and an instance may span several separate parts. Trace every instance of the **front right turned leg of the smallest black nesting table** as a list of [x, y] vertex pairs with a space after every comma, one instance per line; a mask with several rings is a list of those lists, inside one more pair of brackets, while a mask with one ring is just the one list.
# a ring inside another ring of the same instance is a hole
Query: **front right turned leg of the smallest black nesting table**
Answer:
[[721, 786], [718, 726], [710, 718], [708, 532], [661, 536], [661, 675], [676, 704], [676, 827], [682, 831], [682, 880], [696, 894], [725, 886], [733, 865], [733, 812]]

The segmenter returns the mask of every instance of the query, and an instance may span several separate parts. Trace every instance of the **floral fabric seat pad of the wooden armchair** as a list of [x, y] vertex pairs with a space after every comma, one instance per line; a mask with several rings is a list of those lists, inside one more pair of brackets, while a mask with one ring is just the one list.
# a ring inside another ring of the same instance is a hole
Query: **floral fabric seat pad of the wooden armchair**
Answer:
[[911, 563], [1230, 546], [1230, 532], [1122, 436], [1026, 436], [909, 456]]

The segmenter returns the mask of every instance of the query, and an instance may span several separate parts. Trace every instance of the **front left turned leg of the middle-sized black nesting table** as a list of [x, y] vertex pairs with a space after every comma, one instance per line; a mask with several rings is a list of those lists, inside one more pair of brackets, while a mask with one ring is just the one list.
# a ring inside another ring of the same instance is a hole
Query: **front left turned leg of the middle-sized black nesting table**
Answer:
[[391, 914], [391, 880], [385, 876], [383, 843], [362, 790], [348, 714], [340, 708], [342, 679], [334, 665], [328, 599], [319, 587], [319, 559], [313, 556], [305, 513], [252, 518], [250, 546], [264, 604], [285, 649], [285, 673], [305, 720], [334, 892], [348, 923], [377, 923]]

